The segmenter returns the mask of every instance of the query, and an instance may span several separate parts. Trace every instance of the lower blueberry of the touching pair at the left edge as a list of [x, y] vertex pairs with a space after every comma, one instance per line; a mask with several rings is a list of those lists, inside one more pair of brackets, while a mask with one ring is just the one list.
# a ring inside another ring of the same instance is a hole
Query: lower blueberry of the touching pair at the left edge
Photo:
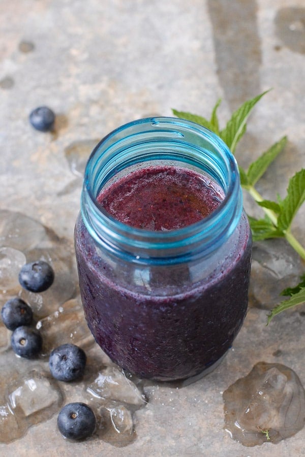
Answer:
[[11, 343], [15, 354], [25, 358], [36, 357], [42, 348], [40, 332], [25, 325], [14, 330]]

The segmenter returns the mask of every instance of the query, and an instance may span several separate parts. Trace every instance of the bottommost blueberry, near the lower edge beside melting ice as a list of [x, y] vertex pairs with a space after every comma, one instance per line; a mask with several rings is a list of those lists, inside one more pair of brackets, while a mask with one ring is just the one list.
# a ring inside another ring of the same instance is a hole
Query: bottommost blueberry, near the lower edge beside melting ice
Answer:
[[93, 434], [96, 418], [93, 410], [85, 403], [68, 403], [58, 414], [57, 427], [64, 437], [82, 440]]

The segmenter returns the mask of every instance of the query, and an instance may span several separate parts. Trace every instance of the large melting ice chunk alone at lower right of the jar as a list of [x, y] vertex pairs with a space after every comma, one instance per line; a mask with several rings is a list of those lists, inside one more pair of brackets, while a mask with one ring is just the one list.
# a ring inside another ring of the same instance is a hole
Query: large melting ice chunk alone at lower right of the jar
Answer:
[[304, 427], [305, 390], [285, 365], [259, 362], [223, 398], [225, 429], [245, 446], [278, 443]]

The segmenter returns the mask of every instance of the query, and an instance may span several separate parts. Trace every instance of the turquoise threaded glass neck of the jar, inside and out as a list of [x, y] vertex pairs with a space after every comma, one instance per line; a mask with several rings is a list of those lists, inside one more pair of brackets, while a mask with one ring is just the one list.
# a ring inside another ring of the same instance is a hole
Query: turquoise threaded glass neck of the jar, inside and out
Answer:
[[[101, 189], [119, 174], [163, 162], [196, 169], [216, 181], [224, 192], [220, 205], [185, 227], [150, 231], [114, 219], [98, 204]], [[87, 161], [81, 195], [84, 224], [98, 245], [129, 261], [175, 263], [208, 255], [234, 232], [241, 211], [235, 158], [217, 135], [188, 120], [153, 117], [127, 123], [104, 137]]]

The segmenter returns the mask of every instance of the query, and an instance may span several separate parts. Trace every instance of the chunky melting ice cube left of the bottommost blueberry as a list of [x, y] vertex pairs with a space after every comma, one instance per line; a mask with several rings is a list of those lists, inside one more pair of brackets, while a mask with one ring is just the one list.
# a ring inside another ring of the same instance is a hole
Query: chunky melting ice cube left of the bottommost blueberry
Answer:
[[29, 427], [58, 411], [63, 397], [49, 375], [36, 367], [8, 385], [7, 400], [18, 423], [26, 423]]

